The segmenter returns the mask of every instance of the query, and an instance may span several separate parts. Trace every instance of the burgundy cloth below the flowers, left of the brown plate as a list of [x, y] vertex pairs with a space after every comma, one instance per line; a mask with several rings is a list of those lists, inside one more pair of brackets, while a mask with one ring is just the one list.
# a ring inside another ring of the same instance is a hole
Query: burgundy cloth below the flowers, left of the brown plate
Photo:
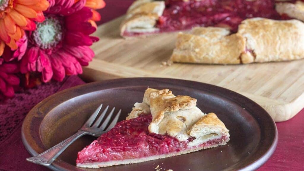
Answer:
[[13, 99], [0, 101], [0, 170], [38, 171], [46, 167], [26, 161], [30, 157], [21, 141], [21, 126], [26, 114], [37, 103], [61, 90], [84, 84], [78, 76], [70, 76], [63, 82], [50, 82], [34, 89], [17, 93]]

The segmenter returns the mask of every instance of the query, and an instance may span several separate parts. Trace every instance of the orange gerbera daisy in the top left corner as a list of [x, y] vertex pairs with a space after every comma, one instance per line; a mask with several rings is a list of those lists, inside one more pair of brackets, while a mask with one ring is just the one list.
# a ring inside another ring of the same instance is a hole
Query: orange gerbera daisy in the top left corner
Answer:
[[44, 20], [43, 12], [49, 7], [47, 0], [0, 0], [0, 56], [5, 44], [17, 49], [24, 30], [35, 30], [34, 21]]

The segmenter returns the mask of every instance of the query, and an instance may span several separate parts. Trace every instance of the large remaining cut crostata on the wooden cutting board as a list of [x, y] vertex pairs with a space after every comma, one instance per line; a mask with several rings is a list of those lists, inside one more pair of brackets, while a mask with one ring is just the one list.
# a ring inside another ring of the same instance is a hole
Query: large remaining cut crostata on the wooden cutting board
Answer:
[[179, 33], [173, 62], [246, 64], [304, 58], [304, 0], [136, 0], [123, 37]]

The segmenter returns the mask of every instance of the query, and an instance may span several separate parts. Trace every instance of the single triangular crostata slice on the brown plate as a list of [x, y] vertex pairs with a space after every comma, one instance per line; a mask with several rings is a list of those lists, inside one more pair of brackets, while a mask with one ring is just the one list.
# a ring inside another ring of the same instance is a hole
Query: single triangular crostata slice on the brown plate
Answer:
[[77, 166], [98, 168], [138, 163], [225, 145], [229, 130], [196, 99], [148, 88], [142, 103], [109, 132], [78, 152]]

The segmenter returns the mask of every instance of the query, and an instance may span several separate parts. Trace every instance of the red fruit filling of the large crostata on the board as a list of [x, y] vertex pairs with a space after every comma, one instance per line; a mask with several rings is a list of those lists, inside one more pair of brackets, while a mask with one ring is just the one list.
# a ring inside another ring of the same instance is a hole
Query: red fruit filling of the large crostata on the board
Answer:
[[[275, 0], [166, 0], [166, 8], [156, 24], [158, 30], [148, 34], [189, 30], [195, 26], [228, 27], [236, 32], [238, 25], [247, 18], [290, 19], [278, 14], [275, 3]], [[124, 32], [125, 36], [142, 34], [147, 33]]]

